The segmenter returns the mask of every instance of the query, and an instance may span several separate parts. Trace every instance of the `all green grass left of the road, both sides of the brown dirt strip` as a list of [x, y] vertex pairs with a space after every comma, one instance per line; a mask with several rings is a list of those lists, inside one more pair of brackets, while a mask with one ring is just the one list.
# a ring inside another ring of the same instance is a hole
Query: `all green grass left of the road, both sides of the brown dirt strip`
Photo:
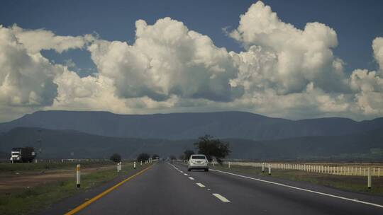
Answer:
[[[106, 163], [105, 163], [106, 162]], [[82, 171], [87, 170], [87, 167], [101, 166], [109, 164], [110, 168], [96, 168], [96, 170], [82, 174], [81, 188], [76, 188], [75, 171], [74, 167], [77, 163], [13, 163], [13, 167], [18, 170], [42, 170], [45, 169], [45, 165], [48, 165], [50, 169], [55, 168], [72, 168], [73, 173], [70, 179], [56, 180], [55, 182], [48, 182], [46, 184], [40, 184], [35, 187], [24, 187], [23, 189], [7, 190], [6, 192], [0, 192], [0, 214], [32, 214], [35, 211], [44, 209], [50, 204], [59, 202], [61, 199], [70, 197], [78, 192], [84, 192], [92, 187], [103, 184], [116, 178], [118, 175], [123, 175], [133, 170], [131, 162], [123, 163], [120, 173], [116, 172], [115, 163], [111, 161], [105, 161], [101, 163], [81, 163]], [[2, 165], [2, 164], [1, 164]], [[26, 168], [25, 165], [30, 165]], [[10, 168], [5, 168], [2, 165], [2, 170], [10, 171]], [[138, 168], [144, 168], [145, 165]], [[13, 170], [14, 171], [14, 170]]]

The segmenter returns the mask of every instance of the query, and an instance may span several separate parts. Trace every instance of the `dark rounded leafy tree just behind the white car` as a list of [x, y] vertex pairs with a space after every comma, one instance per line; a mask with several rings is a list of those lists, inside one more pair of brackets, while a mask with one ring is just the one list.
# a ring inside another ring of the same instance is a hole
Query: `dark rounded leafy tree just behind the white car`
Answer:
[[198, 153], [204, 154], [209, 161], [212, 161], [214, 157], [220, 164], [222, 159], [231, 153], [228, 143], [223, 143], [220, 139], [213, 139], [213, 136], [208, 134], [200, 136], [199, 141], [194, 146], [198, 149]]

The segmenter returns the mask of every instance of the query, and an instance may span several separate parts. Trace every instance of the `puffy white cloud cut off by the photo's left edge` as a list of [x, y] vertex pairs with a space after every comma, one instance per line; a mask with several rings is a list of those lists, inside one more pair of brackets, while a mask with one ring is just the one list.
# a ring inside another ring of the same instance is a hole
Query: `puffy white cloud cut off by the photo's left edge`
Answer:
[[13, 106], [50, 105], [57, 95], [53, 79], [61, 66], [40, 53], [30, 54], [8, 28], [0, 25], [0, 103]]

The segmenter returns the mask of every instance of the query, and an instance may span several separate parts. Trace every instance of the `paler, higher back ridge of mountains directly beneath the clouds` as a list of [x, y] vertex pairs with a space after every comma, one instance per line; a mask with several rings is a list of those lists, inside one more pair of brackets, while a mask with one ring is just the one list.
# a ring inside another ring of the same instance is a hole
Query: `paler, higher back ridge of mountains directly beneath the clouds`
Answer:
[[76, 130], [100, 136], [140, 139], [195, 139], [211, 134], [220, 138], [272, 140], [367, 132], [383, 128], [383, 118], [362, 122], [345, 118], [294, 121], [249, 112], [116, 115], [111, 112], [39, 111], [1, 123], [0, 132], [16, 127]]

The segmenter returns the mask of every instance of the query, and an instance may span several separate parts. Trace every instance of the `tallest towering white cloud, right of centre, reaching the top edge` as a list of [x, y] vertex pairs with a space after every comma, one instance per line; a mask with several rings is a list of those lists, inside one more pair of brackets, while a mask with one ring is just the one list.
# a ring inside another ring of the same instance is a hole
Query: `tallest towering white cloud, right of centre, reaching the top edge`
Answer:
[[[331, 50], [338, 45], [337, 36], [326, 25], [307, 23], [304, 30], [299, 30], [280, 21], [270, 6], [258, 1], [240, 16], [240, 25], [230, 35], [247, 50], [239, 54], [238, 62], [248, 69], [240, 73], [256, 76], [256, 85], [259, 81], [273, 85], [279, 94], [304, 91], [311, 82], [325, 91], [345, 87], [342, 85], [343, 62], [336, 59]], [[248, 59], [260, 59], [260, 55], [272, 57], [272, 66], [267, 64], [264, 68], [261, 63], [250, 68], [254, 61]]]

